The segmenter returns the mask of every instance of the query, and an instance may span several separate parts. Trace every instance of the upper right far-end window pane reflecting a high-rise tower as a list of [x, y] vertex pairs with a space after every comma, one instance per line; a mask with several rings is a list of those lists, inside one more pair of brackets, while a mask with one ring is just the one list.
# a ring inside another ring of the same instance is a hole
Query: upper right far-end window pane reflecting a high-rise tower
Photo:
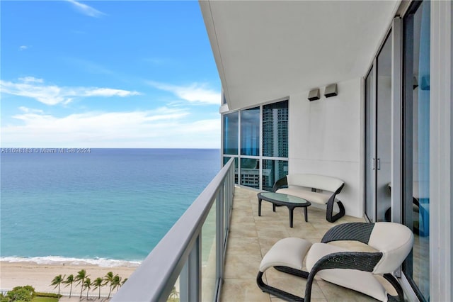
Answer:
[[263, 106], [263, 156], [288, 157], [288, 101]]

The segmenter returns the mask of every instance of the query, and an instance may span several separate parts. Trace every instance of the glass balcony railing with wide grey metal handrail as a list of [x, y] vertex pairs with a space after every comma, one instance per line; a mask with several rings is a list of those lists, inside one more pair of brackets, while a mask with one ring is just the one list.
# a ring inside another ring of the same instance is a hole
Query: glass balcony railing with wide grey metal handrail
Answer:
[[233, 194], [231, 159], [111, 301], [218, 301]]

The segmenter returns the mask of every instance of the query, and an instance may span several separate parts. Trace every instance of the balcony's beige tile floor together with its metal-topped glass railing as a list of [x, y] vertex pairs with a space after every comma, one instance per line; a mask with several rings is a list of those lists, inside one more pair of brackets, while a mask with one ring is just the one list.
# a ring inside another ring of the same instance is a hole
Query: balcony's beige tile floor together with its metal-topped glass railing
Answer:
[[[302, 237], [311, 242], [333, 225], [361, 222], [344, 216], [326, 221], [326, 209], [309, 208], [309, 222], [302, 208], [294, 209], [294, 227], [289, 228], [287, 208], [263, 202], [258, 217], [258, 191], [234, 186], [231, 159], [193, 202], [192, 206], [154, 247], [112, 301], [167, 301], [173, 289], [180, 301], [278, 301], [263, 293], [256, 274], [263, 255], [277, 240]], [[369, 250], [360, 242], [337, 242], [350, 250]], [[297, 296], [304, 296], [305, 280], [268, 270], [265, 280]], [[382, 283], [392, 295], [391, 286]], [[175, 287], [173, 287], [175, 286]], [[312, 301], [375, 301], [373, 298], [315, 279]]]

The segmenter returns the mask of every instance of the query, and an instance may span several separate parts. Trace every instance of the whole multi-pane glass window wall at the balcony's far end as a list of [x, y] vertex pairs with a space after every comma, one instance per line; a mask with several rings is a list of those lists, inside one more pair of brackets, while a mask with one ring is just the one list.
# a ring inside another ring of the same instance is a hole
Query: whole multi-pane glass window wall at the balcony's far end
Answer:
[[236, 184], [270, 191], [275, 181], [288, 174], [288, 100], [262, 108], [224, 114], [222, 157], [223, 164], [234, 157]]

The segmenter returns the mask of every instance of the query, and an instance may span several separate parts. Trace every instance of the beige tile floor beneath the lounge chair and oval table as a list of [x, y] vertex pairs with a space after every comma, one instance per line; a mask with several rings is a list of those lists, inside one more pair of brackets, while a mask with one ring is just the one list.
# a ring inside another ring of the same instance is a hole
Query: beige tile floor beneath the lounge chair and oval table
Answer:
[[[224, 284], [221, 301], [281, 301], [275, 296], [263, 293], [256, 285], [256, 274], [262, 257], [277, 240], [284, 237], [301, 237], [311, 242], [320, 242], [323, 234], [333, 225], [348, 222], [361, 222], [362, 218], [344, 216], [336, 223], [326, 221], [326, 210], [309, 207], [309, 222], [304, 221], [303, 209], [294, 210], [294, 227], [289, 228], [286, 207], [277, 208], [274, 213], [272, 204], [263, 201], [261, 216], [258, 217], [258, 191], [236, 187], [228, 247]], [[343, 242], [345, 244], [346, 242]], [[365, 247], [357, 245], [357, 250]], [[350, 245], [348, 245], [350, 248]], [[273, 286], [304, 296], [305, 279], [291, 276], [275, 269], [268, 269], [265, 281]], [[374, 298], [330, 284], [321, 279], [314, 281], [311, 301], [376, 301]]]

